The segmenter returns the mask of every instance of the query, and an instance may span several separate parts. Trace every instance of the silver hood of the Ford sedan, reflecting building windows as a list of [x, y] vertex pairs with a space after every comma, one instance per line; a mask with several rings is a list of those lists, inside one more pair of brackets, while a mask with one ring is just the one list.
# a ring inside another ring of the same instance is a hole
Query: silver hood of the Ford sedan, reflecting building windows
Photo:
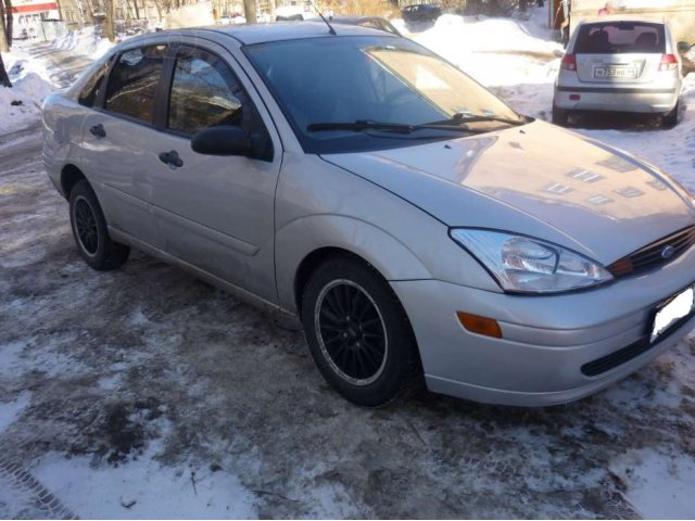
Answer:
[[695, 223], [687, 194], [664, 174], [543, 122], [321, 157], [450, 227], [528, 234], [604, 264]]

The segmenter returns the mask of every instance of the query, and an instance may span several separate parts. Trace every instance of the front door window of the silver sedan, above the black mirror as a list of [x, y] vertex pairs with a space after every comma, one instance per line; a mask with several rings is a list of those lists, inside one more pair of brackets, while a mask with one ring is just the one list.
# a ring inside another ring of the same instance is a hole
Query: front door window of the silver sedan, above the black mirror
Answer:
[[192, 136], [216, 125], [241, 126], [241, 96], [239, 81], [218, 58], [184, 48], [176, 58], [168, 127]]

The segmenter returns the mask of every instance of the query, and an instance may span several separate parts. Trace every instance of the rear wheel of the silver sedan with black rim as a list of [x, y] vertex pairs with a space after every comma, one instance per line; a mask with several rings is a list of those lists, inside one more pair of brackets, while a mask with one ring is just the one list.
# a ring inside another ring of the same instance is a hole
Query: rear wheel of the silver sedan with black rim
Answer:
[[77, 250], [90, 267], [108, 271], [128, 259], [130, 249], [109, 237], [104, 214], [86, 180], [79, 181], [70, 192], [70, 224]]

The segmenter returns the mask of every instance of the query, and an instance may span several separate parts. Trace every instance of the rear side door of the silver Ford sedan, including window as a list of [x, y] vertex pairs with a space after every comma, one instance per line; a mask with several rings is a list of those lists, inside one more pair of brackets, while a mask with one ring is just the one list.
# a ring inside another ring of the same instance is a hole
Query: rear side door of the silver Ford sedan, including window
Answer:
[[150, 212], [150, 173], [159, 162], [146, 143], [157, 134], [154, 112], [167, 50], [148, 45], [119, 53], [83, 128], [83, 167], [109, 226], [155, 247], [161, 237]]

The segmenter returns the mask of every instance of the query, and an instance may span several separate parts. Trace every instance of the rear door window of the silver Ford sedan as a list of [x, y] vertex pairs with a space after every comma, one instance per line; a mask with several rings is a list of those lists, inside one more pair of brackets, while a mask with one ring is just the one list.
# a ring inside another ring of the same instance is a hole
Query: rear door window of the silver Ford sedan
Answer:
[[165, 54], [166, 46], [143, 47], [121, 54], [109, 77], [104, 109], [151, 124]]

